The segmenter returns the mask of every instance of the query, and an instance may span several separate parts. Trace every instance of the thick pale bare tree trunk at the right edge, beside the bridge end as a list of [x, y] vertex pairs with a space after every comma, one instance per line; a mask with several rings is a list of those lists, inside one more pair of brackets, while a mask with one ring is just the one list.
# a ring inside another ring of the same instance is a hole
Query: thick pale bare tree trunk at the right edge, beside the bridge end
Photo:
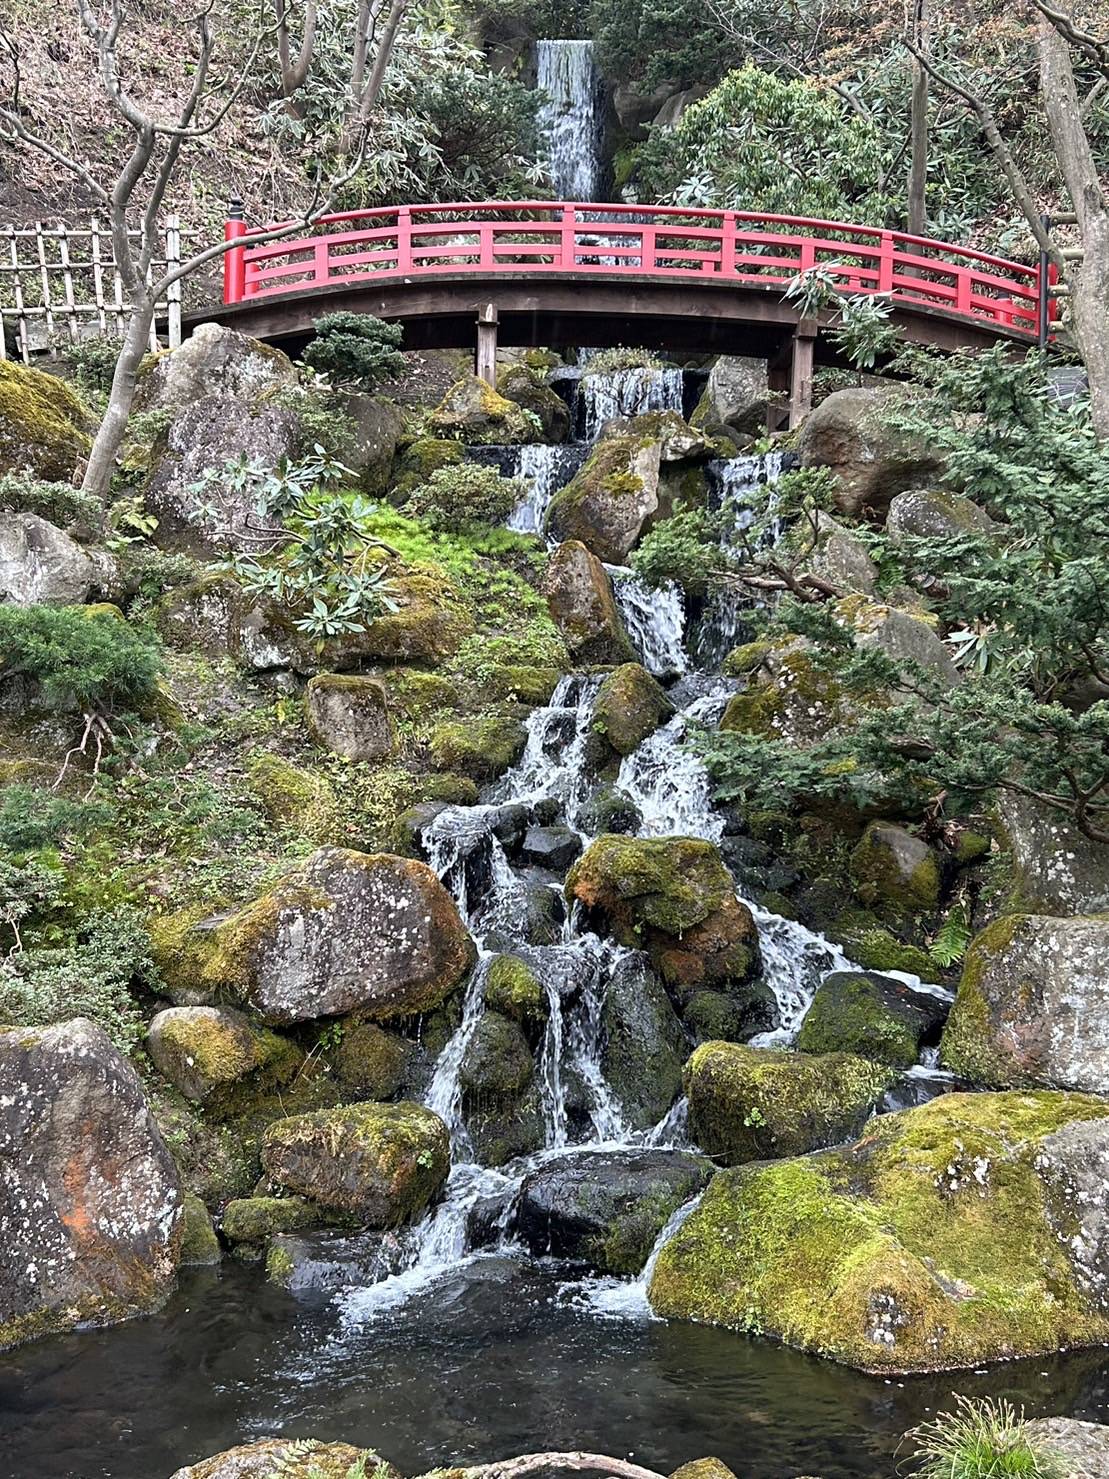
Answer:
[[1075, 340], [1090, 382], [1094, 429], [1109, 436], [1109, 204], [1085, 132], [1071, 46], [1047, 16], [1040, 21], [1040, 90], [1082, 241], [1082, 260], [1068, 271]]

